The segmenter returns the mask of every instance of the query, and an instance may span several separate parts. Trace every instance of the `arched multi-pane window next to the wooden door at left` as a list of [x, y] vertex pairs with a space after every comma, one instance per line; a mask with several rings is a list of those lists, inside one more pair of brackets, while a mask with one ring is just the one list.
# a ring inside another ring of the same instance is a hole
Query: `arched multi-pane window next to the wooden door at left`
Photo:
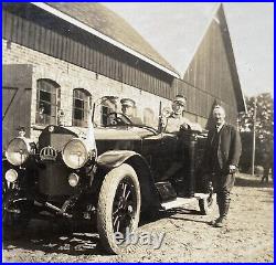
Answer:
[[61, 87], [54, 81], [39, 80], [36, 91], [36, 124], [56, 124], [61, 107]]

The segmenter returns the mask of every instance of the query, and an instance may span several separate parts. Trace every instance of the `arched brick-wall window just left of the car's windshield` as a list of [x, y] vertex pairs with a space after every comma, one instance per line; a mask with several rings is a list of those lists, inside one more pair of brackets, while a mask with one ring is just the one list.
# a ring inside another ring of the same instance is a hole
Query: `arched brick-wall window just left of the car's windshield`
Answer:
[[73, 126], [87, 126], [87, 116], [91, 106], [91, 94], [83, 88], [75, 88], [73, 92]]

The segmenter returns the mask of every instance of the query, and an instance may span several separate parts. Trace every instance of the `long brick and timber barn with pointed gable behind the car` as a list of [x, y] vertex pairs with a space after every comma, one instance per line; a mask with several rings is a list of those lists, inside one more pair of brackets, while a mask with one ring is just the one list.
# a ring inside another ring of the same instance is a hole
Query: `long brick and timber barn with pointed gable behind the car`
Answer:
[[221, 6], [195, 49], [184, 77], [124, 19], [100, 3], [21, 2], [2, 4], [3, 148], [18, 129], [38, 137], [49, 124], [86, 126], [136, 100], [136, 115], [157, 126], [160, 103], [188, 98], [187, 117], [209, 126], [212, 106], [227, 121], [245, 110], [227, 24]]

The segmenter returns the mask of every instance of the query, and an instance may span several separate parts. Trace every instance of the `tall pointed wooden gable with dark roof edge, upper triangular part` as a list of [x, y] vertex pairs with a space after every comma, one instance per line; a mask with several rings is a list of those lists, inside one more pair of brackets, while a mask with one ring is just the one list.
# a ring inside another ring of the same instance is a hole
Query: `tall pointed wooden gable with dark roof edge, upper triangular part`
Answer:
[[246, 110], [222, 4], [195, 50], [183, 81], [223, 105], [230, 119]]

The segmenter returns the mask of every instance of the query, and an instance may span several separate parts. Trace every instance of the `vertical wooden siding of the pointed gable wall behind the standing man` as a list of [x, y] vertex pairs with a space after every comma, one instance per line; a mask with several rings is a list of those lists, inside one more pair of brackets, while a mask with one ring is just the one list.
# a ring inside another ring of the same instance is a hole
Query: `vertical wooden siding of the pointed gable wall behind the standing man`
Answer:
[[[191, 112], [206, 117], [210, 115], [212, 106], [217, 103], [225, 108], [227, 121], [235, 124], [237, 99], [227, 52], [221, 24], [212, 21], [184, 74], [184, 83], [189, 86], [189, 89], [195, 92], [195, 94], [191, 93], [190, 95], [195, 96], [195, 105], [193, 105], [193, 99], [190, 99], [188, 96]], [[195, 109], [193, 108], [194, 106]]]

